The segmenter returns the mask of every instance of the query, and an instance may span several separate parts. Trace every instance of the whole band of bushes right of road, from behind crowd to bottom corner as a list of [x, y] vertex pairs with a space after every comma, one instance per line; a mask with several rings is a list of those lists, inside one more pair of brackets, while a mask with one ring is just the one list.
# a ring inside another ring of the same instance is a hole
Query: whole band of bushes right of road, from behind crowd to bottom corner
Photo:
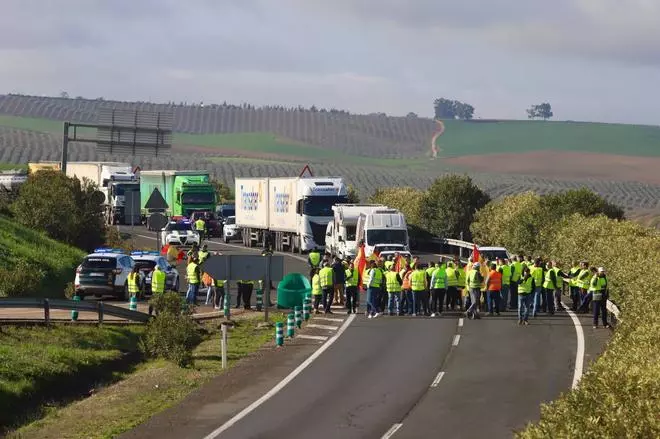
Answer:
[[[660, 437], [660, 233], [619, 220], [612, 206], [594, 199], [585, 203], [590, 195], [584, 192], [553, 197], [549, 211], [535, 194], [492, 202], [477, 213], [475, 237], [480, 244], [544, 254], [565, 267], [580, 260], [605, 267], [610, 297], [622, 315], [577, 389], [543, 405], [540, 422], [518, 436]], [[590, 210], [594, 206], [600, 211]]]

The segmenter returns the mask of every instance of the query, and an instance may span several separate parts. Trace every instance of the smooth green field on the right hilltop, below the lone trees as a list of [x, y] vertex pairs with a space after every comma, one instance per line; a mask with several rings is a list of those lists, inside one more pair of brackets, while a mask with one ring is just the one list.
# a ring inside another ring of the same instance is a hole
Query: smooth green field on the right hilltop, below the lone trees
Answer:
[[444, 121], [440, 157], [529, 151], [660, 156], [660, 126], [590, 122]]

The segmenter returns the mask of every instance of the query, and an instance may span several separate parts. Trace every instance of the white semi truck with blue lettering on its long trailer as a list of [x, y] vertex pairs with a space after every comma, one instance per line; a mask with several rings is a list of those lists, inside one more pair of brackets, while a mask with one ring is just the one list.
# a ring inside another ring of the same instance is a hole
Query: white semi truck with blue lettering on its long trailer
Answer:
[[332, 206], [347, 202], [341, 177], [237, 178], [235, 189], [243, 244], [292, 253], [323, 249]]

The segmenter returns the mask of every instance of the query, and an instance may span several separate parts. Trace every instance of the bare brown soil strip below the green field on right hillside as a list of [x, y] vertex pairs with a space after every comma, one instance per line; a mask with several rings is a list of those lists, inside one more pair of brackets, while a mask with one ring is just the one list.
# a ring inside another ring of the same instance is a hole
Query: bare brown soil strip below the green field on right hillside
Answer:
[[660, 184], [660, 158], [572, 151], [466, 155], [443, 162], [473, 171]]

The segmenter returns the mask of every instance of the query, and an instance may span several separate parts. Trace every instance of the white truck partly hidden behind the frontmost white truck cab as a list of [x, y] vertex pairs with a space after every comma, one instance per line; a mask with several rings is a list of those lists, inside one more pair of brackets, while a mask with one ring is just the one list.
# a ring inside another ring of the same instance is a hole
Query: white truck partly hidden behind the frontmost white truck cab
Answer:
[[333, 220], [325, 231], [325, 251], [345, 258], [357, 254], [357, 222], [361, 214], [387, 209], [383, 204], [337, 204], [332, 206]]

